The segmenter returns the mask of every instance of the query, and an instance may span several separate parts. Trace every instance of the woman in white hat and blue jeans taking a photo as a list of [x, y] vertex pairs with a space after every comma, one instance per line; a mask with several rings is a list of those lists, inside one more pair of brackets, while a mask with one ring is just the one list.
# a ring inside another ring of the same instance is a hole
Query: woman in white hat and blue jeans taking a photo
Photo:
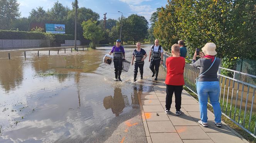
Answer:
[[200, 59], [196, 61], [197, 53], [195, 51], [192, 66], [200, 67], [200, 75], [197, 79], [196, 89], [199, 99], [200, 118], [198, 121], [202, 126], [207, 127], [207, 102], [208, 96], [211, 101], [215, 124], [221, 127], [221, 106], [219, 104], [219, 79], [217, 71], [219, 69], [220, 59], [216, 58], [216, 45], [214, 43], [206, 43], [199, 53]]

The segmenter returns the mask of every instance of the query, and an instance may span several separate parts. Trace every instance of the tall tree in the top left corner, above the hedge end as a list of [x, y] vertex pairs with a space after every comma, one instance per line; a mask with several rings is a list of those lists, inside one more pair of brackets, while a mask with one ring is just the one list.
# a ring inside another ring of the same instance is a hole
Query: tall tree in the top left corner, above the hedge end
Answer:
[[9, 30], [19, 18], [19, 3], [17, 0], [0, 0], [0, 29]]

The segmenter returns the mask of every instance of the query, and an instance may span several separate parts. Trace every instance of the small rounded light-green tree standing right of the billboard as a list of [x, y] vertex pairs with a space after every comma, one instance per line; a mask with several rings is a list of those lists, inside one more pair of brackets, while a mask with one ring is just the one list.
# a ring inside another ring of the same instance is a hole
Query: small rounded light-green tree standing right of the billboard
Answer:
[[103, 39], [103, 31], [101, 27], [97, 25], [97, 21], [93, 20], [83, 21], [81, 25], [84, 31], [84, 38], [91, 40], [90, 47], [95, 49], [96, 44]]

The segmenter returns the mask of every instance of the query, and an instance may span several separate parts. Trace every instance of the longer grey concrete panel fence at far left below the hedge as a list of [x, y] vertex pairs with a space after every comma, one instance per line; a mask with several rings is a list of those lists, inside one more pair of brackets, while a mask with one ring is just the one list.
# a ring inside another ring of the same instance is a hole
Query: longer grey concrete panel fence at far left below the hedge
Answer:
[[4, 48], [24, 48], [24, 47], [49, 47], [50, 41], [47, 39], [23, 40], [23, 39], [0, 39], [0, 49]]

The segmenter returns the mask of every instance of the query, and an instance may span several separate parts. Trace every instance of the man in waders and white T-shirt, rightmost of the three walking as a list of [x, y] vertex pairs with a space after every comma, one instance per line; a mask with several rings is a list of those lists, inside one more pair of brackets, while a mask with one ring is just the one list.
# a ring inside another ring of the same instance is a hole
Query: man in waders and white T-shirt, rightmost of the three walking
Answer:
[[159, 66], [163, 63], [163, 48], [159, 45], [158, 39], [156, 39], [155, 44], [151, 46], [148, 61], [150, 62], [149, 68], [153, 72], [152, 77], [155, 76], [155, 81], [157, 81]]

